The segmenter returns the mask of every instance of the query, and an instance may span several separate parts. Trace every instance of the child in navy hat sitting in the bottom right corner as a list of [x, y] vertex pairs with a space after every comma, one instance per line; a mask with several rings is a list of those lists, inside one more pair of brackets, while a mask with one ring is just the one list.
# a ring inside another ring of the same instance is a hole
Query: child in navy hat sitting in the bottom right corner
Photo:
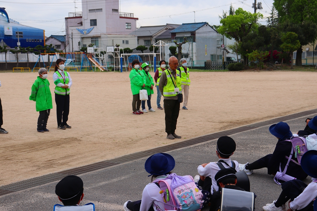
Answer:
[[271, 204], [263, 206], [264, 211], [285, 210], [288, 202], [290, 210], [313, 211], [313, 200], [317, 197], [317, 150], [307, 151], [301, 158], [301, 167], [312, 178], [308, 186], [300, 180], [290, 180], [282, 184], [279, 198]]

